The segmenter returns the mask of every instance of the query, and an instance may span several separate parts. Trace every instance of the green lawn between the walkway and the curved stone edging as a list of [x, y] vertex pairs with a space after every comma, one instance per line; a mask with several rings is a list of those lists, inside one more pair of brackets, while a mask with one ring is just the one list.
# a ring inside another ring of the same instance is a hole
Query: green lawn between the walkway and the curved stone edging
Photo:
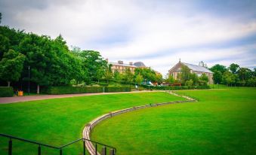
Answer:
[[[80, 96], [0, 105], [0, 132], [60, 146], [82, 138], [85, 124], [94, 118], [135, 105], [184, 100], [168, 93], [127, 93]], [[107, 141], [106, 144], [109, 144]], [[14, 154], [35, 154], [36, 145], [14, 140]], [[63, 154], [82, 153], [82, 145]], [[80, 150], [79, 150], [80, 149]], [[8, 138], [0, 138], [0, 154], [7, 154]], [[58, 152], [42, 147], [42, 154]]]

